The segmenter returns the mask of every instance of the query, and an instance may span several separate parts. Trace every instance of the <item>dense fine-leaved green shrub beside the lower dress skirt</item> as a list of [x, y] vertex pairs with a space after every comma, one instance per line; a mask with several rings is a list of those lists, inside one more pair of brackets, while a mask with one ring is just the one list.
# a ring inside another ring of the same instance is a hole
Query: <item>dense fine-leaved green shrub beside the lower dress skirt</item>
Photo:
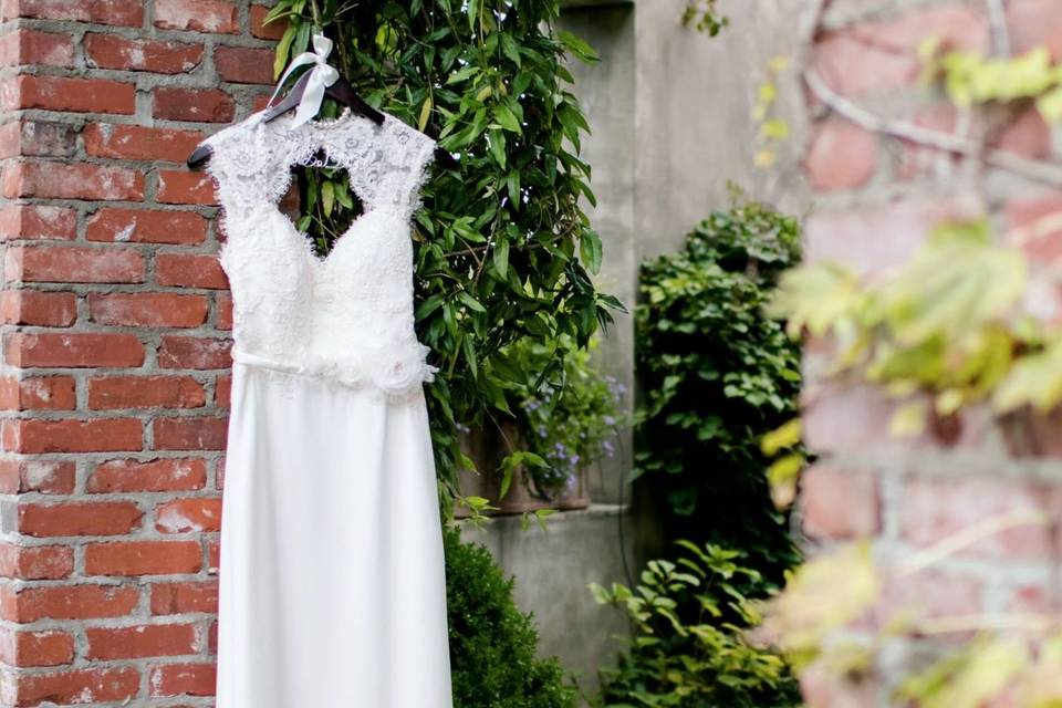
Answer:
[[513, 580], [457, 529], [447, 527], [444, 541], [455, 708], [572, 708], [576, 691], [560, 662], [535, 657], [538, 631], [512, 598]]

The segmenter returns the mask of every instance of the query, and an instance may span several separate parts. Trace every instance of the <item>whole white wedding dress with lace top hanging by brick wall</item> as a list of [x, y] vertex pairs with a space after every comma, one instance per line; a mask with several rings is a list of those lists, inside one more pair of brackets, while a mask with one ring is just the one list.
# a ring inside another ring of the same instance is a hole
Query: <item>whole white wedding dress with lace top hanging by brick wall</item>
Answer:
[[[208, 138], [232, 289], [217, 708], [451, 708], [410, 219], [435, 142], [391, 115]], [[364, 214], [325, 259], [278, 208], [323, 149]]]

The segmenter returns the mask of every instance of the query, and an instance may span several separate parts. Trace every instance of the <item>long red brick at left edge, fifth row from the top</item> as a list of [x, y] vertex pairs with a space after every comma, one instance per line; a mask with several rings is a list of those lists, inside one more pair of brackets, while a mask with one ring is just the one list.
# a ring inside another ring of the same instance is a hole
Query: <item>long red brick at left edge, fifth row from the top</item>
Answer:
[[125, 167], [62, 163], [8, 163], [3, 196], [44, 199], [144, 198], [144, 174]]

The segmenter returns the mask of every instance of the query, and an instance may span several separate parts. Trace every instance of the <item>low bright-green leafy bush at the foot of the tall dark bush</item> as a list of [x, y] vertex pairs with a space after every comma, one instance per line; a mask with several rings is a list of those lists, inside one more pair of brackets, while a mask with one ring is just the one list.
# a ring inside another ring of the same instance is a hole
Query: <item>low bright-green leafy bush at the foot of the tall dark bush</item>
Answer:
[[626, 611], [634, 628], [629, 654], [603, 669], [598, 705], [668, 708], [798, 706], [800, 691], [785, 663], [747, 644], [742, 631], [759, 620], [749, 598], [761, 575], [747, 556], [716, 545], [678, 541], [687, 553], [650, 561], [632, 591], [592, 585], [596, 600]]

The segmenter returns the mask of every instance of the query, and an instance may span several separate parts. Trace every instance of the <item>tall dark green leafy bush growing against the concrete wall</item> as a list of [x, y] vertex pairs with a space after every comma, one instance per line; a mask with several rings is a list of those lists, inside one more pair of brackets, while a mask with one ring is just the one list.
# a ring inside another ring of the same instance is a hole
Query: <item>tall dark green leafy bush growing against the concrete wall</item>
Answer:
[[796, 552], [760, 439], [796, 415], [800, 347], [763, 306], [799, 249], [795, 219], [770, 207], [717, 211], [643, 266], [637, 309], [636, 473], [670, 512], [671, 538], [748, 550], [772, 581]]

